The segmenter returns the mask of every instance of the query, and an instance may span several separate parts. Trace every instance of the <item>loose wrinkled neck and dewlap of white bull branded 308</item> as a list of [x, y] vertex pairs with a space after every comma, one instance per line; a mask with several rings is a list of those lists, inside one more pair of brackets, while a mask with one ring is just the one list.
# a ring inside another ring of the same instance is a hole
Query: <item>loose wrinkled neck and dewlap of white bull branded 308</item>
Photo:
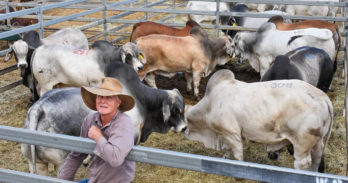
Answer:
[[188, 135], [184, 132], [181, 135], [189, 140], [201, 142], [205, 147], [216, 151], [231, 149], [227, 141], [223, 139], [223, 136], [212, 130], [208, 122], [209, 102], [205, 102], [204, 99], [185, 111], [189, 132]]

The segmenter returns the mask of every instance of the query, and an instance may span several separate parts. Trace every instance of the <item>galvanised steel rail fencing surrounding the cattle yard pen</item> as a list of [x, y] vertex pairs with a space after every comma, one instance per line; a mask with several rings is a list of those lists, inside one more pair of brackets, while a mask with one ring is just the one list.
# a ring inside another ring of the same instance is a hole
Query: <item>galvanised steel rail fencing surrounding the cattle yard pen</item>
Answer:
[[[39, 2], [55, 2], [50, 4], [37, 4]], [[339, 61], [338, 64], [344, 66], [345, 72], [345, 108], [347, 108], [348, 104], [348, 85], [347, 85], [347, 51], [346, 43], [348, 41], [347, 32], [344, 31], [346, 25], [348, 25], [348, 15], [347, 15], [347, 7], [348, 2], [326, 2], [326, 1], [295, 1], [295, 0], [199, 0], [199, 1], [214, 1], [218, 2], [216, 6], [216, 12], [212, 11], [193, 11], [193, 10], [183, 10], [183, 9], [175, 9], [176, 7], [185, 6], [188, 1], [183, 1], [181, 3], [176, 4], [175, 0], [173, 3], [167, 3], [170, 0], [160, 0], [158, 2], [148, 3], [145, 0], [144, 3], [136, 2], [137, 0], [125, 0], [121, 2], [106, 2], [103, 0], [102, 2], [97, 1], [89, 1], [89, 0], [35, 0], [35, 3], [13, 3], [8, 2], [0, 2], [0, 6], [4, 6], [0, 9], [6, 9], [9, 12], [9, 6], [27, 6], [33, 7], [30, 9], [21, 10], [18, 12], [0, 14], [0, 20], [7, 19], [7, 23], [9, 25], [9, 19], [12, 17], [22, 17], [22, 18], [38, 18], [39, 23], [26, 26], [26, 27], [10, 27], [10, 31], [3, 32], [0, 34], [0, 39], [6, 38], [12, 35], [17, 35], [19, 33], [27, 32], [30, 30], [39, 30], [40, 38], [44, 37], [44, 31], [57, 31], [58, 29], [53, 28], [45, 28], [46, 26], [60, 23], [63, 21], [84, 21], [91, 22], [86, 25], [80, 26], [76, 29], [81, 30], [86, 34], [94, 35], [88, 38], [88, 41], [93, 41], [95, 39], [103, 37], [104, 40], [108, 40], [107, 36], [121, 36], [117, 39], [111, 40], [111, 43], [116, 44], [119, 41], [126, 39], [130, 36], [130, 32], [119, 32], [119, 30], [126, 28], [137, 22], [146, 21], [148, 18], [158, 15], [160, 13], [171, 13], [165, 18], [157, 21], [170, 26], [178, 26], [184, 27], [184, 23], [176, 23], [176, 22], [165, 22], [170, 20], [171, 18], [175, 18], [175, 16], [180, 14], [198, 14], [198, 15], [213, 15], [216, 16], [216, 24], [215, 25], [201, 25], [202, 28], [207, 29], [215, 29], [215, 36], [218, 36], [218, 30], [228, 29], [228, 30], [245, 30], [245, 31], [256, 31], [256, 28], [249, 27], [240, 27], [240, 26], [222, 26], [219, 25], [220, 16], [245, 16], [245, 17], [262, 17], [262, 18], [270, 18], [273, 15], [271, 14], [256, 14], [256, 13], [235, 13], [235, 12], [219, 12], [219, 2], [245, 2], [245, 3], [266, 3], [266, 4], [287, 4], [287, 5], [316, 5], [316, 6], [338, 6], [341, 7], [340, 13], [342, 17], [316, 17], [316, 16], [303, 16], [303, 15], [282, 15], [284, 18], [288, 19], [301, 19], [301, 20], [325, 20], [325, 21], [338, 21], [342, 23], [342, 32], [341, 35], [343, 38], [343, 44], [339, 48], [340, 51], [345, 51], [344, 60]], [[93, 5], [78, 5], [78, 3], [90, 3]], [[133, 7], [132, 5], [128, 5], [132, 3], [139, 7]], [[127, 7], [121, 7], [126, 5]], [[151, 8], [155, 6], [167, 6], [165, 9], [157, 9]], [[76, 14], [72, 14], [69, 16], [43, 16], [42, 12], [49, 9], [54, 8], [70, 8], [70, 9], [86, 9], [85, 12], [80, 12]], [[114, 15], [111, 17], [106, 17], [106, 11], [125, 11], [124, 13], [120, 13], [118, 15]], [[38, 13], [38, 15], [27, 15], [31, 13]], [[82, 16], [93, 14], [96, 12], [103, 12], [102, 18], [85, 18]], [[124, 16], [130, 15], [135, 12], [144, 12], [144, 16], [138, 18], [137, 20], [123, 20], [120, 19]], [[149, 14], [152, 13], [152, 14]], [[48, 20], [48, 21], [44, 21]], [[107, 30], [106, 23], [122, 23], [123, 25], [119, 25], [115, 28]], [[92, 28], [94, 26], [103, 24], [103, 31], [92, 31], [86, 30]], [[5, 56], [6, 52], [4, 50], [0, 52], [0, 56]], [[0, 75], [8, 73], [10, 71], [16, 70], [17, 65], [13, 65], [0, 70]], [[22, 79], [19, 79], [13, 83], [0, 87], [0, 93], [6, 90], [9, 90], [15, 86], [22, 84]], [[348, 129], [348, 112], [346, 113], [346, 138], [347, 129]], [[0, 139], [8, 140], [19, 143], [33, 144], [38, 146], [46, 146], [52, 148], [58, 148], [62, 150], [68, 151], [76, 151], [82, 153], [93, 154], [93, 149], [95, 147], [95, 142], [90, 139], [84, 139], [79, 137], [65, 136], [59, 134], [50, 134], [47, 132], [41, 131], [32, 131], [27, 129], [20, 129], [14, 127], [6, 127], [0, 126]], [[348, 151], [348, 144], [346, 143], [346, 149]], [[168, 157], [170, 157], [168, 159]], [[153, 165], [174, 167], [180, 169], [187, 169], [192, 171], [199, 171], [211, 174], [218, 174], [224, 176], [245, 178], [250, 180], [262, 181], [262, 182], [348, 182], [347, 177], [330, 175], [330, 174], [321, 174], [321, 173], [313, 173], [309, 171], [295, 170], [289, 168], [282, 167], [274, 167], [269, 165], [260, 165], [256, 163], [248, 163], [248, 162], [240, 162], [234, 160], [224, 160], [219, 158], [211, 158], [204, 157], [200, 155], [179, 153], [173, 151], [165, 151], [158, 150], [148, 147], [140, 147], [134, 146], [133, 150], [127, 156], [128, 160], [150, 163]], [[348, 153], [347, 153], [348, 160]], [[348, 168], [347, 168], [348, 173]], [[1, 169], [0, 168], [0, 182], [70, 182], [63, 181], [55, 178], [33, 175], [22, 173], [13, 170]]]

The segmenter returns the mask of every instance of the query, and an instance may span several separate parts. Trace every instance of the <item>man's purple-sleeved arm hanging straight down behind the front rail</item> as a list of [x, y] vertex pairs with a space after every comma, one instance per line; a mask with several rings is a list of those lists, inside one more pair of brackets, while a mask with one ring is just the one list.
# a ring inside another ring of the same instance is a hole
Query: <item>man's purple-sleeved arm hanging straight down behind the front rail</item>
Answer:
[[[88, 116], [87, 116], [88, 117]], [[86, 138], [88, 133], [88, 127], [86, 124], [86, 119], [81, 126], [81, 134], [80, 137]], [[76, 171], [79, 169], [82, 161], [86, 159], [88, 154], [71, 152], [65, 160], [65, 163], [62, 167], [62, 170], [58, 173], [58, 177], [63, 180], [74, 181]]]

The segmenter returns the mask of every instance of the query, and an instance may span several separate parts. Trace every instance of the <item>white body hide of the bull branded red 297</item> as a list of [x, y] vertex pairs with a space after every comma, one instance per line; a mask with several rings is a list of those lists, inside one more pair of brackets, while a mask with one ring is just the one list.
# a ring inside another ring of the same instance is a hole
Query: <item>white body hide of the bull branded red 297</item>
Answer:
[[76, 50], [73, 46], [45, 45], [34, 51], [32, 72], [39, 83], [37, 89], [40, 96], [58, 83], [65, 87], [101, 84], [104, 68], [97, 63], [100, 55], [93, 49], [84, 50], [83, 54], [80, 51], [75, 54]]

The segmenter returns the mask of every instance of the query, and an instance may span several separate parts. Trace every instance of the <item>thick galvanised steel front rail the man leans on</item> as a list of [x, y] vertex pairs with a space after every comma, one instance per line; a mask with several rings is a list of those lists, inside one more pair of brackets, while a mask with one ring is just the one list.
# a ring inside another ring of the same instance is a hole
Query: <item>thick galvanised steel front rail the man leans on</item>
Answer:
[[[0, 125], [0, 139], [94, 155], [92, 139]], [[266, 158], [266, 157], [265, 157]], [[133, 146], [126, 160], [262, 182], [346, 183], [348, 177]], [[0, 182], [2, 182], [0, 177]], [[25, 181], [25, 180], [24, 180]]]

